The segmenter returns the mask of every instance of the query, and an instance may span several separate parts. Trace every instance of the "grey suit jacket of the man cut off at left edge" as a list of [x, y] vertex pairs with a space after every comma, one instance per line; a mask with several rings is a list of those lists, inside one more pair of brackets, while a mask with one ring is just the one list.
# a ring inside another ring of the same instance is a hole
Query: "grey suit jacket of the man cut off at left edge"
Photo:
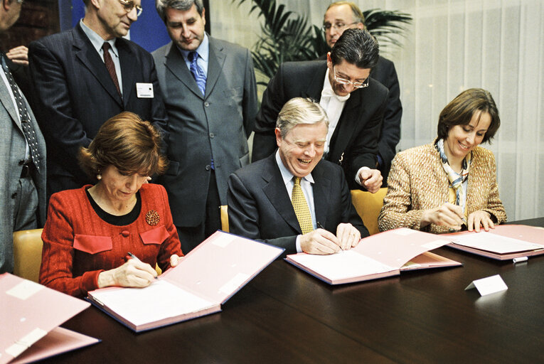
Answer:
[[[0, 72], [2, 72], [0, 70]], [[26, 99], [25, 99], [26, 102]], [[38, 224], [46, 221], [46, 142], [43, 140], [36, 118], [26, 102], [38, 139], [41, 155], [40, 173], [36, 172], [34, 183], [38, 190]], [[12, 196], [17, 191], [18, 180], [23, 166], [19, 161], [25, 156], [25, 137], [21, 122], [17, 117], [14, 102], [11, 100], [6, 84], [0, 80], [0, 273], [13, 272], [13, 232], [18, 206]]]

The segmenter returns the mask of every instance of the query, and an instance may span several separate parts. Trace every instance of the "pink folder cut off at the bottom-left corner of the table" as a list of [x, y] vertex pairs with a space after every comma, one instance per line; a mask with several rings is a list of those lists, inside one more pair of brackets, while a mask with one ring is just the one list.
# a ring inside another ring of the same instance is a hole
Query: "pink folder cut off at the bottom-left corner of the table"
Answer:
[[99, 342], [58, 327], [90, 306], [16, 277], [0, 275], [0, 364], [30, 363]]

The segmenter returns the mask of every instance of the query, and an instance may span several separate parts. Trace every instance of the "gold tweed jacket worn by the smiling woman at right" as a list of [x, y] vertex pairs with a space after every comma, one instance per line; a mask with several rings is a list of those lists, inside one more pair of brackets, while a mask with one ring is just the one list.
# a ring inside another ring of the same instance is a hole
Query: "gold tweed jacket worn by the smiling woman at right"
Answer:
[[[393, 159], [388, 178], [388, 193], [378, 216], [380, 231], [411, 228], [428, 232], [449, 232], [444, 226], [430, 224], [420, 228], [422, 213], [448, 200], [450, 184], [434, 144], [401, 151]], [[498, 198], [495, 156], [476, 146], [472, 151], [466, 193], [466, 215], [477, 210], [491, 214], [496, 223], [506, 222], [506, 211]]]

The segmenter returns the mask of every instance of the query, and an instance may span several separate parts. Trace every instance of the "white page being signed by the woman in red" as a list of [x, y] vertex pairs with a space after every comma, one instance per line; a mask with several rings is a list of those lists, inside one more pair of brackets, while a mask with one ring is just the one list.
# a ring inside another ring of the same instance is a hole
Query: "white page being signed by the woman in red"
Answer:
[[104, 290], [94, 292], [92, 296], [134, 325], [190, 314], [214, 306], [212, 302], [164, 280], [153, 282], [145, 288]]

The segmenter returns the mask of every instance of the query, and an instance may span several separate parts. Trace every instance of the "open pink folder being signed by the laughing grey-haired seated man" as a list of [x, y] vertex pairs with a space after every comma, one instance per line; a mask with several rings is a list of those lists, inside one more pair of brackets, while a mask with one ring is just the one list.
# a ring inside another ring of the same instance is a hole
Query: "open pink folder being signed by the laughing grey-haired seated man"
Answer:
[[333, 255], [299, 253], [285, 259], [324, 282], [344, 284], [395, 276], [405, 270], [462, 265], [429, 252], [448, 243], [440, 235], [399, 228], [365, 237], [356, 247]]

